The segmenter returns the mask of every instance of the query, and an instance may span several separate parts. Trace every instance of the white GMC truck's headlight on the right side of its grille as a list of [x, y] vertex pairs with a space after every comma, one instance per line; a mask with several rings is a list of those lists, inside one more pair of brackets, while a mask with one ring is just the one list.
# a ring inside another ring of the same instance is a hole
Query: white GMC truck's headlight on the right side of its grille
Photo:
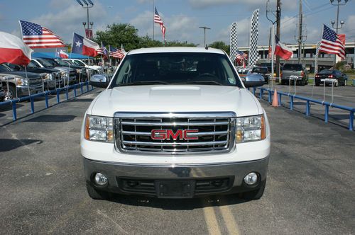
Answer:
[[262, 140], [266, 138], [264, 115], [236, 118], [236, 143]]

